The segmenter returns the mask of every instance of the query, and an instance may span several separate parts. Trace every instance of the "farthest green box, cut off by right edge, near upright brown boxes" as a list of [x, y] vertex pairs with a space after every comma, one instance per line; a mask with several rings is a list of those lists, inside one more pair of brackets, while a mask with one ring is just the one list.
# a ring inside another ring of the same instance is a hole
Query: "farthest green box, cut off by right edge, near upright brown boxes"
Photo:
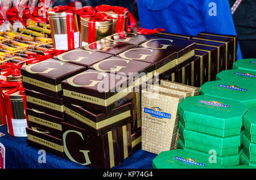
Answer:
[[247, 71], [256, 71], [256, 59], [240, 59], [233, 63], [233, 68]]

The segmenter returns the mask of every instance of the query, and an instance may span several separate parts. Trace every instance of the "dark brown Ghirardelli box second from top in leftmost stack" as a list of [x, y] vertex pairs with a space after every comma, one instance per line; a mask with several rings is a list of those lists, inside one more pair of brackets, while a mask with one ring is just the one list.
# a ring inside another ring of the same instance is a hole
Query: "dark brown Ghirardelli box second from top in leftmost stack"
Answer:
[[37, 109], [47, 114], [64, 118], [64, 105], [62, 98], [53, 98], [39, 92], [25, 89], [27, 108]]

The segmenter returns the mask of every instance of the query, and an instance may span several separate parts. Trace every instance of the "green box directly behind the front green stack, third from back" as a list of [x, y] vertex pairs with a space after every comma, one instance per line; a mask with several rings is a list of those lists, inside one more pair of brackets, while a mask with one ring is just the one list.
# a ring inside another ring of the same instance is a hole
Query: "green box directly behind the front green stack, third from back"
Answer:
[[224, 80], [207, 82], [201, 86], [201, 94], [241, 102], [246, 108], [256, 107], [256, 87], [251, 84]]

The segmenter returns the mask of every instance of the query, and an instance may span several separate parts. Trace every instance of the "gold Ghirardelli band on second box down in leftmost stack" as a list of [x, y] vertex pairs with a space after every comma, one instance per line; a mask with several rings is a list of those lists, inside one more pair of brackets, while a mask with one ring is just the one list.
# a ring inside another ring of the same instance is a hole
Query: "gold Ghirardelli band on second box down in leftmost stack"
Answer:
[[36, 105], [44, 106], [49, 109], [57, 110], [59, 112], [64, 112], [64, 105], [57, 105], [52, 102], [40, 100], [39, 98], [27, 96], [27, 102], [31, 102]]

